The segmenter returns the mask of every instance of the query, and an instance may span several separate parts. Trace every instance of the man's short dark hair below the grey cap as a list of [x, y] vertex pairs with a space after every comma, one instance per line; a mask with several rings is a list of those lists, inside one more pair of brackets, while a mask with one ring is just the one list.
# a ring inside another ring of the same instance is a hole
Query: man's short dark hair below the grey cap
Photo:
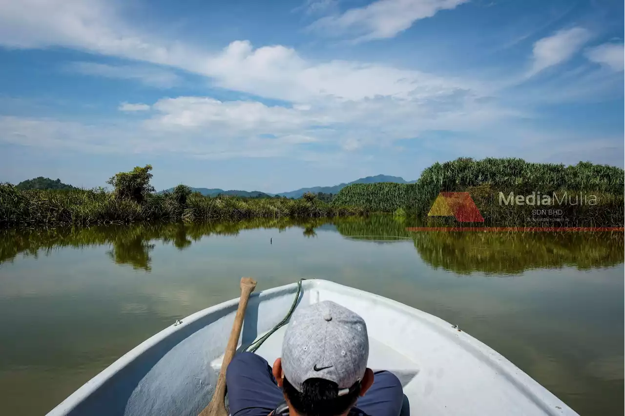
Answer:
[[339, 416], [356, 404], [360, 394], [360, 383], [349, 389], [349, 393], [339, 396], [338, 385], [324, 379], [308, 379], [302, 383], [302, 392], [285, 378], [282, 391], [295, 411], [302, 416]]

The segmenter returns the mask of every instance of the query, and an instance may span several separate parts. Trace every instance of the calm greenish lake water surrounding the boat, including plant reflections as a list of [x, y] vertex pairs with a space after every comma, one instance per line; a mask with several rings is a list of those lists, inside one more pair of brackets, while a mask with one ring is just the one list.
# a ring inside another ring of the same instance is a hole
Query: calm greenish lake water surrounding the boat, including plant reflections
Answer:
[[45, 414], [176, 319], [238, 297], [242, 276], [258, 290], [318, 278], [398, 300], [459, 325], [579, 414], [622, 414], [625, 233], [411, 225], [374, 216], [0, 232], [2, 414]]

